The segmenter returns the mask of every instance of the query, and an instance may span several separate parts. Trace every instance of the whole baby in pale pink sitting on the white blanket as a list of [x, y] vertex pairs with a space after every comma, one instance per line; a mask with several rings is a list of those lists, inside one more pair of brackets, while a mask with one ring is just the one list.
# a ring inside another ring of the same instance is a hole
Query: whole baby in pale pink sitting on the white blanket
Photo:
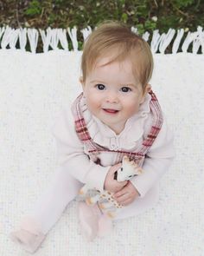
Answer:
[[[53, 127], [59, 163], [54, 180], [11, 234], [30, 253], [86, 183], [113, 194], [123, 206], [116, 219], [152, 207], [157, 183], [175, 156], [173, 136], [150, 87], [153, 58], [143, 38], [119, 23], [101, 24], [86, 40], [81, 70], [83, 92]], [[114, 179], [124, 155], [143, 169], [131, 181]], [[108, 222], [99, 225], [103, 214], [98, 204], [80, 202], [88, 240], [111, 230]]]

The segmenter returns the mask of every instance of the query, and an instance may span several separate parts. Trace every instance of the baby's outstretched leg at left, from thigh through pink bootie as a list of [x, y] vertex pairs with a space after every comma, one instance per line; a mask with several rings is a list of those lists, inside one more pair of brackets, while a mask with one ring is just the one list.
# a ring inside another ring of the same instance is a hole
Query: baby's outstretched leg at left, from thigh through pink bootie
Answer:
[[12, 239], [30, 253], [34, 253], [82, 185], [68, 173], [66, 168], [59, 167], [48, 189], [35, 203], [29, 215], [22, 220], [20, 229], [11, 233]]

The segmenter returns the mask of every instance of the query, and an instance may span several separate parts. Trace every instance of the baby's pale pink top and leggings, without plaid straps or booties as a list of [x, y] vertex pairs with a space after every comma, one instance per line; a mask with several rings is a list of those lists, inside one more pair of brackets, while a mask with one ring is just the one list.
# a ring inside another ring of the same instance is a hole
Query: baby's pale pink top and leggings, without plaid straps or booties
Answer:
[[[42, 233], [48, 233], [48, 230], [54, 226], [67, 204], [75, 198], [84, 183], [92, 182], [93, 187], [103, 190], [109, 168], [122, 159], [116, 152], [138, 153], [138, 148], [143, 145], [144, 138], [150, 135], [152, 124], [154, 124], [154, 113], [150, 105], [151, 95], [148, 94], [137, 115], [133, 115], [126, 122], [124, 130], [116, 135], [111, 128], [92, 116], [86, 107], [86, 99], [82, 97], [80, 111], [86, 123], [88, 135], [92, 138], [94, 145], [103, 148], [100, 151], [99, 148], [97, 149], [95, 152], [97, 155], [90, 154], [84, 141], [79, 139], [75, 130], [76, 120], [71, 109], [69, 107], [63, 109], [53, 127], [59, 167], [50, 187], [42, 194], [30, 213], [30, 216], [41, 226]], [[143, 174], [131, 180], [141, 196], [131, 205], [124, 207], [116, 219], [143, 213], [153, 207], [158, 200], [158, 181], [175, 157], [173, 135], [165, 119], [160, 120], [160, 118], [162, 118], [161, 113], [157, 113], [156, 120], [159, 119], [159, 121], [156, 124], [156, 131], [158, 129], [159, 132], [155, 134], [156, 138], [152, 146], [144, 152], [145, 158], [142, 155]], [[100, 165], [94, 162], [96, 159], [93, 155], [99, 157]]]

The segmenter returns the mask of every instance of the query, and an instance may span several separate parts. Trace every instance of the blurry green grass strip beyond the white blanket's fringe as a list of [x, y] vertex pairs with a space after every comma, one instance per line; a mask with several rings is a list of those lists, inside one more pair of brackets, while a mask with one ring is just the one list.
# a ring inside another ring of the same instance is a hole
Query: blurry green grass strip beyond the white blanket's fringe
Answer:
[[[118, 20], [137, 28], [139, 34], [169, 28], [197, 30], [204, 27], [203, 0], [4, 0], [0, 1], [0, 27], [96, 27], [104, 20]], [[79, 35], [81, 49], [83, 36]]]

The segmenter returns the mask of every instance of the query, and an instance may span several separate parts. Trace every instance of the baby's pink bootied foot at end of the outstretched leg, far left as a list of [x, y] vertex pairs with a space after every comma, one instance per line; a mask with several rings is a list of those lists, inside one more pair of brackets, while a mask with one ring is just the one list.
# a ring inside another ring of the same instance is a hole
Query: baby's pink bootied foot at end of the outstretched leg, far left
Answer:
[[10, 238], [29, 253], [35, 253], [45, 235], [41, 232], [39, 224], [32, 218], [26, 218], [22, 221], [20, 229], [10, 233]]

